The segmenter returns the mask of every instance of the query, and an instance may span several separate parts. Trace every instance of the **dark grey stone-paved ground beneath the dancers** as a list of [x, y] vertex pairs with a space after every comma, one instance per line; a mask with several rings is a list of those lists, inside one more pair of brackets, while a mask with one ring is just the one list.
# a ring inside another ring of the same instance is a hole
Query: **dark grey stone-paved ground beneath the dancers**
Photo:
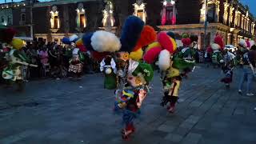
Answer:
[[226, 90], [220, 70], [197, 66], [182, 83], [175, 114], [159, 105], [162, 86], [156, 74], [128, 142], [121, 138], [121, 117], [112, 113], [114, 92], [102, 90], [101, 74], [28, 82], [23, 93], [1, 88], [0, 143], [255, 144], [256, 96], [238, 94], [240, 74], [235, 70], [234, 84]]

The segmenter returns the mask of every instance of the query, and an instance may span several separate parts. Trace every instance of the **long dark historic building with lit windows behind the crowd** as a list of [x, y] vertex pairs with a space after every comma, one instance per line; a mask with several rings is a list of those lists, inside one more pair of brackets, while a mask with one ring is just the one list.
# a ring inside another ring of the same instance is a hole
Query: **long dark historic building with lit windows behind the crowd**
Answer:
[[199, 48], [204, 43], [206, 19], [206, 45], [213, 42], [216, 33], [234, 46], [239, 38], [255, 35], [254, 17], [238, 0], [25, 0], [0, 7], [2, 25], [15, 26], [22, 36], [33, 32], [35, 38], [46, 42], [61, 42], [64, 36], [82, 36], [94, 30], [119, 35], [131, 14], [155, 30], [174, 31], [177, 38], [182, 33], [198, 34]]

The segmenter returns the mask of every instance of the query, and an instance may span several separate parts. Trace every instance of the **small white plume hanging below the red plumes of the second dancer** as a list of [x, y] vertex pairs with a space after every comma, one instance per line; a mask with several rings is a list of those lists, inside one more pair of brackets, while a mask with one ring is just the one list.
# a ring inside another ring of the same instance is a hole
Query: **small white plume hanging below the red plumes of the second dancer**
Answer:
[[170, 67], [170, 52], [162, 50], [158, 58], [158, 66], [160, 70], [167, 70]]

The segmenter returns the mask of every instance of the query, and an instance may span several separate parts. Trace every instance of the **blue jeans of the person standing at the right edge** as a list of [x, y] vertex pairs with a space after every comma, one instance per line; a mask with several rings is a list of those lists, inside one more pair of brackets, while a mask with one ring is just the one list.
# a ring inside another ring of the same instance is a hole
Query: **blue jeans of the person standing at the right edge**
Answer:
[[239, 83], [239, 90], [242, 90], [243, 83], [247, 80], [246, 94], [250, 93], [251, 82], [253, 81], [254, 73], [249, 66], [244, 66], [242, 70], [242, 77]]

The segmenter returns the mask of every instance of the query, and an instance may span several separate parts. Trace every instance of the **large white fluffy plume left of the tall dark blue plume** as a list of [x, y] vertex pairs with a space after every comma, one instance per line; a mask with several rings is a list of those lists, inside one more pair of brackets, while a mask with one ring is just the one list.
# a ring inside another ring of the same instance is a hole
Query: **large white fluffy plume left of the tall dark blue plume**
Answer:
[[98, 30], [90, 38], [91, 46], [98, 52], [114, 52], [121, 48], [121, 42], [113, 33]]

